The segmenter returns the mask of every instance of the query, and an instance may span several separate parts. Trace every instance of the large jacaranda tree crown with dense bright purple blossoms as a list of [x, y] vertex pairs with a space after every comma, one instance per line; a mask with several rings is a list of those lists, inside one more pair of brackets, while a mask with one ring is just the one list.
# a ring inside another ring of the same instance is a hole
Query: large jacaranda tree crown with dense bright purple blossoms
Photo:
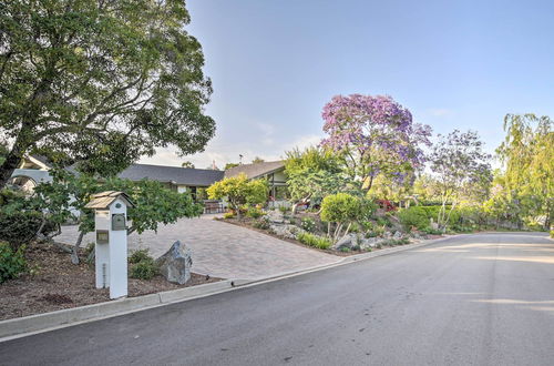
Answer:
[[366, 191], [379, 174], [401, 182], [424, 163], [421, 148], [430, 143], [431, 128], [413, 123], [410, 111], [390, 96], [337, 95], [322, 118], [329, 136], [321, 144], [340, 153]]

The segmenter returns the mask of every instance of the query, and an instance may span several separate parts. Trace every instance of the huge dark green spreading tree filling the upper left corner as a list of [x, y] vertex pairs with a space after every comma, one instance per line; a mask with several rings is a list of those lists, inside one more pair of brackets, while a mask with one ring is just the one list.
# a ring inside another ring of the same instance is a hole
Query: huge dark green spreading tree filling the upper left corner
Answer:
[[0, 2], [0, 187], [25, 153], [112, 175], [156, 146], [204, 149], [212, 83], [182, 0]]

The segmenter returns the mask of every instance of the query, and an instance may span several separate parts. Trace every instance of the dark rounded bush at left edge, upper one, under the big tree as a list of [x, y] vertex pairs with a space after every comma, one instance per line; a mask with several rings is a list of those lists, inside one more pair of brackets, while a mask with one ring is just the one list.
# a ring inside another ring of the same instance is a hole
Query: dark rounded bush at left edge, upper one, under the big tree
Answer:
[[42, 224], [38, 211], [16, 211], [0, 213], [0, 241], [8, 242], [14, 250], [29, 243]]

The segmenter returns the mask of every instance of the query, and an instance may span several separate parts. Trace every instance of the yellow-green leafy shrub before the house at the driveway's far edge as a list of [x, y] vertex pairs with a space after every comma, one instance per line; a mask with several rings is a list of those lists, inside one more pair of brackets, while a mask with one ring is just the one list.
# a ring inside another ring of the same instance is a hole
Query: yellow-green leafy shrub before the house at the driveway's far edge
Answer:
[[243, 205], [256, 205], [267, 201], [268, 185], [265, 180], [248, 181], [246, 174], [226, 177], [207, 189], [211, 200], [226, 199], [235, 212]]

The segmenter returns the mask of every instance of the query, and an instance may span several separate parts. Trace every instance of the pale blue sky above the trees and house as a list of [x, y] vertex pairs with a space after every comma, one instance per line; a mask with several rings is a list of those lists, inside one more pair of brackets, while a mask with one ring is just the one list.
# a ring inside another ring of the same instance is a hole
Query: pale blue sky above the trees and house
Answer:
[[506, 113], [554, 116], [554, 1], [188, 0], [214, 93], [204, 169], [278, 160], [325, 136], [337, 94], [387, 94], [434, 133], [475, 130], [493, 152]]

